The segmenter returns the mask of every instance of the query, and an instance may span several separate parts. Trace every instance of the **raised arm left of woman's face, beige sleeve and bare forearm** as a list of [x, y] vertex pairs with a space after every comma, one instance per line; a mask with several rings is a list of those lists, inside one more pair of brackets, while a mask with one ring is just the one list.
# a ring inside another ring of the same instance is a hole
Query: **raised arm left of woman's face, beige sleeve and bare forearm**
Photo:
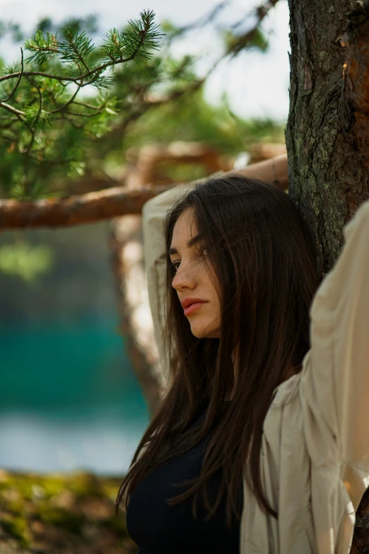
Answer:
[[[288, 187], [287, 156], [276, 156], [269, 160], [253, 163], [246, 168], [233, 173], [240, 173], [245, 177], [264, 180], [274, 183], [281, 189]], [[226, 173], [221, 173], [226, 175]], [[160, 366], [165, 381], [168, 383], [169, 361], [163, 344], [165, 328], [165, 244], [163, 233], [163, 219], [177, 199], [184, 195], [194, 183], [177, 185], [162, 192], [144, 204], [142, 209], [142, 231], [144, 235], [144, 260], [148, 280], [148, 300], [156, 344], [158, 345]]]

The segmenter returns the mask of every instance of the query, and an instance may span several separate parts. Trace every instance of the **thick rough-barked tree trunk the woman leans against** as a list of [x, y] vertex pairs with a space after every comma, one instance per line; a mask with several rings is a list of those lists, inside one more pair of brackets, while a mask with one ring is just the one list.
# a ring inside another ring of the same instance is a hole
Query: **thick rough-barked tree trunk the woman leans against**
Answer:
[[369, 197], [369, 1], [288, 4], [288, 192], [315, 232], [322, 276]]

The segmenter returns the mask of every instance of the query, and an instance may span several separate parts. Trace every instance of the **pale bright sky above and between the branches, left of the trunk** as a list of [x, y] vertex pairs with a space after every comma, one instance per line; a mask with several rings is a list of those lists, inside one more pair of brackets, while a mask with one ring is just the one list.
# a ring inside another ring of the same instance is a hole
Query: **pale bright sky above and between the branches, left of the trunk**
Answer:
[[[158, 23], [169, 20], [182, 26], [198, 21], [218, 3], [217, 0], [104, 0], [103, 3], [100, 0], [0, 0], [0, 20], [20, 23], [30, 36], [37, 21], [45, 16], [59, 23], [69, 17], [97, 14], [102, 33], [101, 40], [94, 41], [102, 42], [107, 30], [123, 27], [129, 19], [138, 18], [139, 12], [144, 9], [152, 9]], [[260, 0], [233, 0], [221, 12], [218, 23], [226, 26], [240, 21], [261, 3]], [[218, 65], [206, 83], [205, 94], [210, 103], [216, 105], [226, 93], [230, 108], [241, 117], [271, 117], [281, 122], [287, 120], [290, 51], [288, 17], [287, 0], [279, 0], [262, 23], [262, 29], [269, 39], [269, 51], [241, 52], [232, 62], [221, 62]], [[249, 18], [248, 25], [250, 21], [252, 19]], [[216, 35], [209, 28], [192, 32], [177, 42], [172, 50], [175, 56], [184, 53], [200, 55], [201, 61], [197, 65], [199, 74], [210, 67], [220, 52], [221, 46]], [[16, 61], [20, 58], [19, 47], [4, 38], [0, 40], [0, 55], [6, 62]]]

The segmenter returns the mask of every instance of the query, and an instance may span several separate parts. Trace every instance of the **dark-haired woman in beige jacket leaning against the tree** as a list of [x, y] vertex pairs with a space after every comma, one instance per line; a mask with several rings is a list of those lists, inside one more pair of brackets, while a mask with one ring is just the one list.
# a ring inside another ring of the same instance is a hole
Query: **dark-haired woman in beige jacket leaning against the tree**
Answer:
[[117, 499], [140, 554], [349, 552], [369, 484], [369, 202], [344, 234], [318, 288], [276, 186], [211, 178], [170, 209], [170, 386]]

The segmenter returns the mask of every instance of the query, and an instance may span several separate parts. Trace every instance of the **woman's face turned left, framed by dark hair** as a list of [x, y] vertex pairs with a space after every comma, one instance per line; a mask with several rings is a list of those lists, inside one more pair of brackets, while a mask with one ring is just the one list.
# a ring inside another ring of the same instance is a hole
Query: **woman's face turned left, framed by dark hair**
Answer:
[[201, 238], [197, 238], [194, 212], [185, 209], [175, 223], [169, 250], [170, 261], [176, 270], [172, 287], [177, 291], [192, 334], [198, 338], [220, 338], [218, 282], [210, 263], [206, 263], [204, 248]]

